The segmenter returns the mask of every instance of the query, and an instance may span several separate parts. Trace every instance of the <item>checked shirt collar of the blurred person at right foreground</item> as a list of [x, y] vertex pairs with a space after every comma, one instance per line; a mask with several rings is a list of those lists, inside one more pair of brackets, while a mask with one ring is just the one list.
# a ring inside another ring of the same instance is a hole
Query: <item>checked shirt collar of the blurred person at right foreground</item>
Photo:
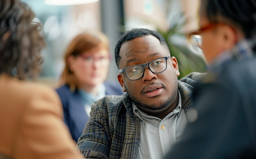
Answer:
[[248, 59], [254, 57], [253, 48], [256, 47], [256, 35], [252, 36], [250, 39], [240, 40], [236, 46], [230, 51], [222, 52], [212, 65], [209, 65], [209, 70], [213, 71], [221, 68], [232, 61], [241, 61], [243, 59]]

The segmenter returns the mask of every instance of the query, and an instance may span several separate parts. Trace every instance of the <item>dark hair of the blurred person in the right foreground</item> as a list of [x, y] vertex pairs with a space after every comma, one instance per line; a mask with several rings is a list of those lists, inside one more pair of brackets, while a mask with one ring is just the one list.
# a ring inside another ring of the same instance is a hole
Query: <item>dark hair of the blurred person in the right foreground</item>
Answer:
[[211, 23], [218, 23], [219, 17], [238, 25], [249, 38], [256, 33], [255, 0], [201, 0], [201, 12]]

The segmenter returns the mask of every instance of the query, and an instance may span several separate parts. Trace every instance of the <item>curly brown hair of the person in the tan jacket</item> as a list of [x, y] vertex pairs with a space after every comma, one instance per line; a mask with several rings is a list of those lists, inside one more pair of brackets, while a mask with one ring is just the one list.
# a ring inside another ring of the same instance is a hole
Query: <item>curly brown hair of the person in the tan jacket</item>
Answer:
[[43, 59], [45, 41], [35, 15], [20, 0], [0, 0], [0, 74], [35, 78]]

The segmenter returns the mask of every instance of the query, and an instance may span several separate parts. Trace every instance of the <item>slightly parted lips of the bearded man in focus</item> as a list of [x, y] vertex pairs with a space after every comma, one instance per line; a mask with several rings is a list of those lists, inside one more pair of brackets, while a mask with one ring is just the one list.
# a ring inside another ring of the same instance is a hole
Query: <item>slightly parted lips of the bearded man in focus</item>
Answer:
[[162, 94], [163, 90], [164, 88], [160, 84], [148, 85], [143, 89], [142, 95], [145, 95], [147, 97], [159, 96], [160, 94]]

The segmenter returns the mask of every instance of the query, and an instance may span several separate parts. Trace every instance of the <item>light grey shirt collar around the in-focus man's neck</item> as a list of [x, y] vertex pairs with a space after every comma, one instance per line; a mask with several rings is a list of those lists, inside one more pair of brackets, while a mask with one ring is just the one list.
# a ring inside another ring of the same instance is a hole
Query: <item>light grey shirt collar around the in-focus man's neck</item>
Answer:
[[[179, 96], [179, 99], [178, 99], [177, 107], [171, 113], [166, 115], [166, 117], [164, 117], [164, 119], [168, 118], [171, 115], [176, 114], [176, 113], [178, 113], [178, 116], [180, 116], [181, 109], [182, 109], [182, 101], [181, 101], [181, 94], [180, 94], [179, 90], [178, 90], [178, 96]], [[132, 110], [133, 110], [133, 113], [135, 113], [135, 115], [137, 115], [137, 117], [144, 122], [145, 122], [145, 119], [149, 119], [149, 118], [159, 119], [155, 116], [148, 115], [148, 114], [144, 113], [143, 111], [141, 111], [133, 101], [132, 101]]]

